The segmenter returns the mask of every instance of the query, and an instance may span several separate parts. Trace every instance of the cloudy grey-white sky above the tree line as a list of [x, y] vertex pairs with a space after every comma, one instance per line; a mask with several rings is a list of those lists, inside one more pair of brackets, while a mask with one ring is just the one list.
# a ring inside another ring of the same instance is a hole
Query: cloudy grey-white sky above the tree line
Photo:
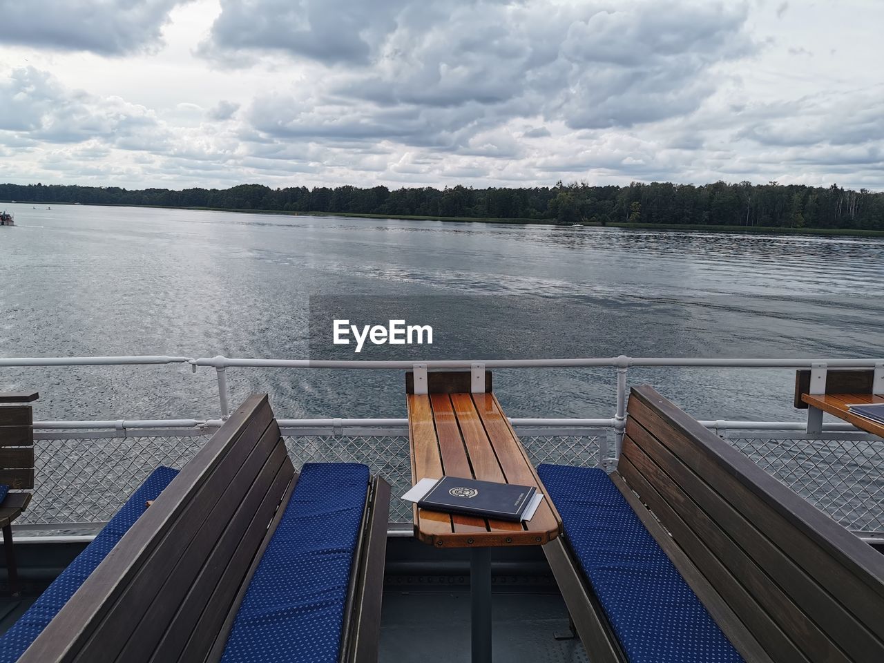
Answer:
[[0, 0], [0, 182], [884, 190], [879, 0]]

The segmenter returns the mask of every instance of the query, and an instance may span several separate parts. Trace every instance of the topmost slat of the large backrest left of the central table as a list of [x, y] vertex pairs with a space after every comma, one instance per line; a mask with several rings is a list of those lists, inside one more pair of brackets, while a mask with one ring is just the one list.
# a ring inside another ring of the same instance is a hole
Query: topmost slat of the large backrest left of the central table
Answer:
[[258, 434], [266, 430], [272, 416], [266, 395], [252, 396], [234, 411], [36, 637], [19, 663], [74, 659], [149, 560], [163, 539], [158, 533], [164, 535], [173, 529], [191, 506], [194, 494], [210, 483], [213, 470], [224, 461], [233, 443], [250, 430]]

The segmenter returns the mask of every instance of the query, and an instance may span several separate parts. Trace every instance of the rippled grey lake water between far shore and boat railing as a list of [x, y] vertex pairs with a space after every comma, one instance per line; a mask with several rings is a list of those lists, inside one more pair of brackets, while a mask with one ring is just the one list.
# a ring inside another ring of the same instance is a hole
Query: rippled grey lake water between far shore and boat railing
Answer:
[[[488, 298], [493, 315], [461, 324], [478, 332], [457, 347], [465, 359], [884, 355], [880, 239], [7, 207], [17, 223], [0, 228], [7, 357], [308, 358], [309, 297], [342, 294]], [[509, 340], [492, 347], [498, 331]], [[396, 371], [229, 374], [232, 400], [271, 392], [280, 417], [406, 412]], [[611, 416], [614, 379], [506, 370], [495, 391], [514, 416]], [[792, 370], [634, 369], [629, 382], [698, 418], [802, 416]], [[13, 388], [41, 392], [42, 420], [218, 414], [207, 368], [0, 369], [0, 389]]]

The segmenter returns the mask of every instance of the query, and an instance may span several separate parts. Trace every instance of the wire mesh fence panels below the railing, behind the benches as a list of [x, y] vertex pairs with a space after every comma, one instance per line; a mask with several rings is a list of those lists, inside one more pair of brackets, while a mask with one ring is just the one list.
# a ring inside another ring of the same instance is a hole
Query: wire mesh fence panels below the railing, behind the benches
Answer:
[[[106, 522], [157, 465], [180, 468], [192, 458], [207, 439], [205, 432], [138, 436], [103, 431], [90, 437], [82, 431], [38, 433], [34, 499], [17, 523], [50, 529]], [[520, 435], [535, 464], [594, 466], [604, 448], [613, 448], [609, 431], [536, 433]], [[770, 435], [732, 433], [728, 441], [844, 527], [884, 533], [884, 441]], [[392, 486], [390, 522], [411, 522], [410, 504], [398, 497], [411, 485], [408, 436], [287, 434], [285, 439], [299, 468], [310, 461], [367, 464]]]

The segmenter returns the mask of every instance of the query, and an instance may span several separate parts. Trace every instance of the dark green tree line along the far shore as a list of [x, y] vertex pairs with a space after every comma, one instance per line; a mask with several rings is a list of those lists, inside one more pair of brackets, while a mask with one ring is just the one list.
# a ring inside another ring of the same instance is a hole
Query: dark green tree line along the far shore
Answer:
[[560, 224], [641, 223], [884, 230], [884, 193], [769, 182], [702, 186], [633, 182], [592, 187], [285, 187], [244, 184], [181, 191], [63, 185], [0, 185], [0, 200], [215, 208], [392, 217], [522, 219]]

